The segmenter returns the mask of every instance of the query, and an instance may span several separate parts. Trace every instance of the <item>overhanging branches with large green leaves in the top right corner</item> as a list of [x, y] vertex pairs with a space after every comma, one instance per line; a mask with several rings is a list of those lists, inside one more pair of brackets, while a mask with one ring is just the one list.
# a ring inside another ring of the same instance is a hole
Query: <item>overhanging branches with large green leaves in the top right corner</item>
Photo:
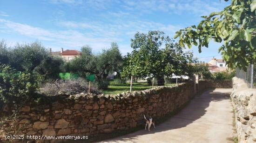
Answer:
[[[228, 0], [225, 0], [228, 1]], [[208, 47], [209, 41], [223, 42], [219, 48], [229, 68], [243, 68], [256, 61], [256, 0], [231, 0], [221, 12], [202, 16], [203, 20], [177, 31], [179, 44]]]

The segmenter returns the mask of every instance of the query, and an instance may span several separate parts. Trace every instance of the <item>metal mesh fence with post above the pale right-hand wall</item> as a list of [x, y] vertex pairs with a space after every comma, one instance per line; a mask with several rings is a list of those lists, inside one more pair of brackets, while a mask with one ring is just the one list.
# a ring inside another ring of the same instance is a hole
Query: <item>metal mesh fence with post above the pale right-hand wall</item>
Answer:
[[246, 71], [236, 68], [236, 77], [243, 79], [249, 88], [256, 88], [256, 71], [254, 71], [253, 64], [249, 64]]

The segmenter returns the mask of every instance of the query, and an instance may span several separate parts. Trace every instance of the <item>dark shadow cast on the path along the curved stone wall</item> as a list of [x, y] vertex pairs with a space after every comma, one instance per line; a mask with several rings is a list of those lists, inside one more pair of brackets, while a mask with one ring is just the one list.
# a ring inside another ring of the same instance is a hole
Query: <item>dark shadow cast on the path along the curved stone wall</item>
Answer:
[[[150, 131], [143, 130], [135, 131], [133, 133], [116, 137], [114, 139], [109, 139], [104, 142], [126, 142], [136, 140], [139, 136], [146, 134], [155, 134], [162, 131], [175, 130], [182, 127], [186, 127], [191, 123], [198, 122], [197, 119], [201, 118], [206, 113], [206, 108], [209, 107], [210, 102], [217, 102], [221, 100], [229, 99], [230, 93], [218, 93], [213, 92], [214, 89], [207, 90], [208, 95], [202, 94], [201, 96], [195, 96], [194, 99], [190, 101], [190, 103], [182, 109], [182, 111], [178, 112], [171, 118], [168, 118], [162, 124], [157, 124], [157, 120], [155, 121], [155, 128], [151, 126]], [[207, 97], [207, 96], [210, 96]], [[145, 127], [145, 126], [144, 126]]]

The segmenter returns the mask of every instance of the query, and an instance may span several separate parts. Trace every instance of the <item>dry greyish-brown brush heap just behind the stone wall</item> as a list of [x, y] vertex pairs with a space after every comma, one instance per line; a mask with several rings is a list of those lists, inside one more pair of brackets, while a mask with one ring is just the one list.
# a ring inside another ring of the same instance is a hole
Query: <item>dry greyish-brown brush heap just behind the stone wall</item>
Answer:
[[[78, 78], [47, 82], [40, 88], [39, 92], [47, 96], [62, 94], [72, 95], [77, 93], [88, 93], [88, 89], [88, 82], [82, 78]], [[91, 85], [90, 93], [99, 93], [95, 84]]]

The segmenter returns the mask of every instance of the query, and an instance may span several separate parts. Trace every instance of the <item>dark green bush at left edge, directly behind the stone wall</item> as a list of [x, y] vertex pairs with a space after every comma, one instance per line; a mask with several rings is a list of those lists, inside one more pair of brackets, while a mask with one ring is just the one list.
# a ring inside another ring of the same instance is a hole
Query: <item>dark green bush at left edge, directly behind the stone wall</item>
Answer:
[[3, 103], [33, 99], [37, 87], [37, 77], [34, 75], [0, 64], [0, 100]]

